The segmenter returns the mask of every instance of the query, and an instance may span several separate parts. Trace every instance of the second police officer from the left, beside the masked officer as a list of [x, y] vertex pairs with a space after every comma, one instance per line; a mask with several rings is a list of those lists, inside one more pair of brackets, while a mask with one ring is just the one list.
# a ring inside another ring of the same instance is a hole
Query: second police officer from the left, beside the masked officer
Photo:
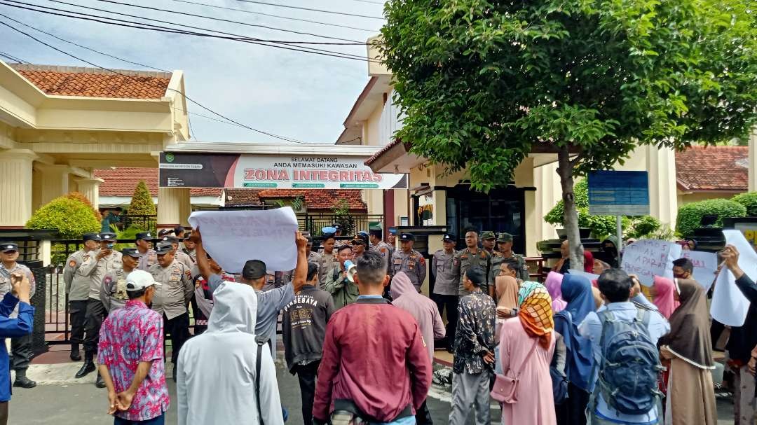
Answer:
[[95, 256], [95, 251], [100, 247], [100, 235], [86, 233], [82, 236], [83, 248], [71, 254], [66, 260], [63, 269], [63, 280], [66, 282], [66, 294], [68, 295], [68, 312], [71, 321], [71, 354], [73, 361], [82, 359], [79, 353], [79, 344], [84, 343], [84, 318], [87, 312], [87, 299], [89, 298], [89, 276], [82, 275], [79, 271], [81, 265]]

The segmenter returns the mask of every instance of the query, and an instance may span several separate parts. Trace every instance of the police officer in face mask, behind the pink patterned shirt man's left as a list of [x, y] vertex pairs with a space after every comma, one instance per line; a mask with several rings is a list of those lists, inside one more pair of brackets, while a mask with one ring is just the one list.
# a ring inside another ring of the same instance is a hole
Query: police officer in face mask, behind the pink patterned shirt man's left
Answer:
[[[101, 233], [100, 250], [79, 266], [79, 272], [84, 276], [89, 276], [89, 298], [87, 299], [87, 312], [84, 318], [84, 365], [76, 372], [77, 378], [85, 377], [96, 369], [94, 358], [100, 342], [100, 326], [107, 314], [102, 301], [100, 301], [102, 280], [108, 272], [123, 267], [121, 253], [113, 249], [115, 244], [116, 234]], [[100, 374], [98, 374], [95, 385], [98, 387], [104, 385]]]

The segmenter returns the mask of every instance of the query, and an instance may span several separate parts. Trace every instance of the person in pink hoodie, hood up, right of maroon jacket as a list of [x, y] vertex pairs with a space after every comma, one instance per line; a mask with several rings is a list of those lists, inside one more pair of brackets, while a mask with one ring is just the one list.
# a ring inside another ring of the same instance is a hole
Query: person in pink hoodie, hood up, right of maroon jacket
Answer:
[[[436, 303], [419, 294], [413, 282], [403, 271], [391, 279], [391, 298], [391, 303], [395, 307], [403, 309], [416, 319], [423, 343], [428, 351], [428, 359], [433, 362], [434, 341], [441, 340], [446, 334]], [[433, 423], [431, 412], [428, 411], [425, 401], [416, 412], [416, 423]]]

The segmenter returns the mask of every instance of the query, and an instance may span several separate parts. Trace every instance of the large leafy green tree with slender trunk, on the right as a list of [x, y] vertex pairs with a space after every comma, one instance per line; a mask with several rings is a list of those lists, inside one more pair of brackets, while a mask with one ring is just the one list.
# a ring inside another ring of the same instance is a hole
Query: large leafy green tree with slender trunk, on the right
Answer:
[[757, 0], [395, 0], [379, 48], [414, 154], [507, 185], [557, 154], [571, 264], [573, 178], [635, 147], [744, 137], [755, 123]]

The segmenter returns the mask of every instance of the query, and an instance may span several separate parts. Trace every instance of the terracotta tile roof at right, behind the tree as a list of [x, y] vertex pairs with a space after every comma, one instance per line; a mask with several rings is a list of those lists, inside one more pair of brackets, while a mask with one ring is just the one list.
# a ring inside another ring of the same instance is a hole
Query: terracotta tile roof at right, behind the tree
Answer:
[[749, 147], [693, 146], [675, 154], [675, 174], [682, 191], [747, 190]]

